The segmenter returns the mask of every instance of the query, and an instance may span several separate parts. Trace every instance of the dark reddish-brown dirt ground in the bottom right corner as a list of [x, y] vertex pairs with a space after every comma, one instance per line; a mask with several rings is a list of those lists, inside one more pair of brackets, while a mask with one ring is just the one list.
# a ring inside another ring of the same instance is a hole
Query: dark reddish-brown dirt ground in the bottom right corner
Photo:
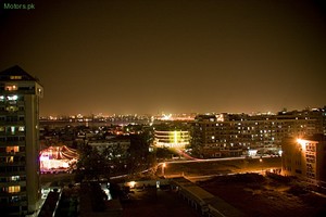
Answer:
[[326, 197], [297, 181], [284, 182], [259, 174], [216, 177], [198, 184], [247, 216], [326, 216]]

